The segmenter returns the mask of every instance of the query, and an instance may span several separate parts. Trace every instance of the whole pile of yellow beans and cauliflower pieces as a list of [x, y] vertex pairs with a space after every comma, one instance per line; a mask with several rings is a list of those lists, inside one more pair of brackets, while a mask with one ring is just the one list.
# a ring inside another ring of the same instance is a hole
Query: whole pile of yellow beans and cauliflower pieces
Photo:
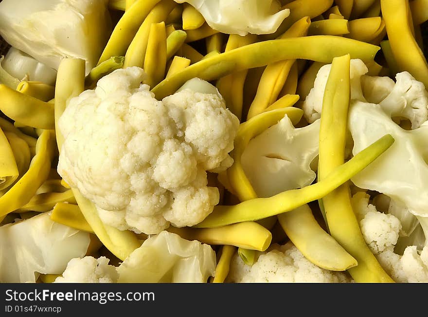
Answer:
[[428, 282], [427, 1], [36, 2], [1, 282]]

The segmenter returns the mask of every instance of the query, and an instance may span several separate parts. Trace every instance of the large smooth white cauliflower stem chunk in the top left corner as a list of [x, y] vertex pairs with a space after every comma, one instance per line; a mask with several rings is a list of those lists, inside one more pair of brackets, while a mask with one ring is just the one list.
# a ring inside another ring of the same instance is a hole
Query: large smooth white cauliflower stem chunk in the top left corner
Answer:
[[0, 35], [12, 46], [58, 69], [64, 57], [95, 66], [111, 32], [108, 0], [2, 0]]

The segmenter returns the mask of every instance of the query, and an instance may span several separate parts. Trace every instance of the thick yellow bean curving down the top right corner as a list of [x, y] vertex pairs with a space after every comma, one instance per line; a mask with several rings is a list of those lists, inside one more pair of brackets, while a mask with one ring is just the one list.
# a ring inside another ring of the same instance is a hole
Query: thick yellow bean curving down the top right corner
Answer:
[[398, 71], [408, 71], [428, 87], [428, 64], [411, 31], [409, 0], [381, 0], [380, 4]]

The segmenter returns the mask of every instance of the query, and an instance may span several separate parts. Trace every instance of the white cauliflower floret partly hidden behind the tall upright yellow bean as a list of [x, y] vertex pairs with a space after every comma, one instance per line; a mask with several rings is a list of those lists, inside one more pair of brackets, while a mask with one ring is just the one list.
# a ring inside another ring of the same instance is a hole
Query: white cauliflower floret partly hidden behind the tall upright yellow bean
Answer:
[[[314, 81], [314, 87], [310, 90], [303, 102], [303, 115], [309, 123], [321, 118], [322, 99], [324, 98], [325, 86], [327, 85], [330, 70], [331, 64], [324, 65], [320, 68]], [[367, 72], [367, 66], [361, 59], [351, 59], [351, 99], [365, 101], [361, 88], [361, 76]]]

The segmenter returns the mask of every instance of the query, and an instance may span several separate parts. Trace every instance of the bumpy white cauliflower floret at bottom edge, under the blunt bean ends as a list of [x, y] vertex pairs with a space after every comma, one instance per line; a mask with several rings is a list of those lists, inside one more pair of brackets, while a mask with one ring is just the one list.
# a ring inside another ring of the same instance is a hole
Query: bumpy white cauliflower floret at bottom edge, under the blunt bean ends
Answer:
[[228, 281], [237, 283], [345, 283], [351, 282], [343, 272], [328, 271], [308, 261], [290, 242], [261, 254], [252, 265], [238, 255], [231, 262]]

